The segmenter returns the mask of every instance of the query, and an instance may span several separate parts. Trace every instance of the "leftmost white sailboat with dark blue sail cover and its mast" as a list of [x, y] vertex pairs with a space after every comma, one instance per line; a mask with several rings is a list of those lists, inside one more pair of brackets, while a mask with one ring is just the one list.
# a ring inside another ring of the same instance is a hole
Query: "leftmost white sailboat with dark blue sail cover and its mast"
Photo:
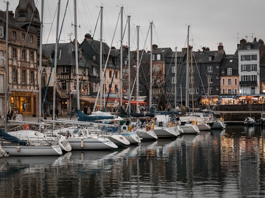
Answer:
[[[6, 34], [8, 35], [8, 2], [6, 6]], [[7, 84], [8, 84], [8, 42], [6, 36], [6, 63], [5, 63], [5, 107], [7, 107]], [[5, 120], [7, 114], [5, 112]], [[27, 128], [24, 129], [27, 131]], [[7, 154], [16, 156], [43, 156], [43, 155], [61, 155], [62, 150], [57, 142], [47, 141], [45, 144], [36, 146], [27, 141], [22, 141], [19, 138], [10, 135], [7, 132], [7, 122], [5, 122], [4, 131], [0, 129], [0, 136], [2, 138], [2, 149]]]

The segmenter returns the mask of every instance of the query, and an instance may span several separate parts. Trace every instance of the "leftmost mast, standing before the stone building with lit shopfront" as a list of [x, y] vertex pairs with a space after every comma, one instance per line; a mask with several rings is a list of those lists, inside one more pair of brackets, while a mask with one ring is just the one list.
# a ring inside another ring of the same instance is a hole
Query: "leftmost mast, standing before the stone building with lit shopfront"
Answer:
[[7, 84], [8, 84], [8, 4], [9, 2], [6, 2], [6, 28], [5, 28], [5, 83], [4, 83], [4, 131], [6, 132], [7, 129]]

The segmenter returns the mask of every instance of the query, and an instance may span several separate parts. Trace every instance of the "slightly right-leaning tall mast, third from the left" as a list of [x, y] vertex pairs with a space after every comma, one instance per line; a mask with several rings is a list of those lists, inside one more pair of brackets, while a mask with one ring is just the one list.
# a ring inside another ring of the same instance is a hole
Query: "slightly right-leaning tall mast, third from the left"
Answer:
[[[56, 25], [56, 43], [55, 43], [55, 53], [54, 53], [54, 74], [53, 74], [53, 120], [55, 120], [55, 105], [56, 105], [56, 103], [55, 103], [56, 102], [55, 101], [55, 96], [56, 96], [56, 67], [57, 67], [60, 3], [61, 3], [61, 0], [58, 0], [58, 13], [57, 13], [57, 25]], [[53, 124], [53, 128], [54, 128], [54, 124]]]

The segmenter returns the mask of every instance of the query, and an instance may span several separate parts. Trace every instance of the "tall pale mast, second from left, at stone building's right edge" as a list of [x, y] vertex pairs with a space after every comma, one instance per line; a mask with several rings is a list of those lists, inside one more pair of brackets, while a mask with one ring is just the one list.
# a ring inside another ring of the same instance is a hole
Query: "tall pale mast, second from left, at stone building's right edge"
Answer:
[[41, 120], [41, 88], [42, 88], [42, 33], [43, 33], [43, 7], [44, 0], [41, 1], [41, 26], [40, 26], [40, 58], [39, 58], [39, 121]]

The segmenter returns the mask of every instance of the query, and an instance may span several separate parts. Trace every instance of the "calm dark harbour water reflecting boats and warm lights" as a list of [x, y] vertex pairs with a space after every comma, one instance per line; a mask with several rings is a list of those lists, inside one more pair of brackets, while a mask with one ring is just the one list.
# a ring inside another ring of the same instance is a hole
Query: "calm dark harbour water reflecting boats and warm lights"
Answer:
[[262, 198], [265, 128], [227, 126], [60, 157], [3, 157], [0, 189], [0, 198]]

